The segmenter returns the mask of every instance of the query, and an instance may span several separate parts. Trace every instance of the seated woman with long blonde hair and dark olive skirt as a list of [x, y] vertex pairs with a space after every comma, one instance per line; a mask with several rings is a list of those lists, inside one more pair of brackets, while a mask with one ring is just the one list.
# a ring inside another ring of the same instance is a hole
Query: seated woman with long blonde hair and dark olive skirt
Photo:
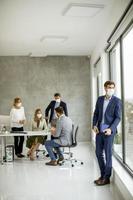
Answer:
[[[47, 130], [47, 124], [42, 116], [42, 111], [40, 108], [35, 110], [34, 119], [32, 121], [32, 131], [42, 131]], [[47, 136], [30, 136], [27, 139], [26, 146], [29, 148], [27, 156], [30, 160], [34, 160], [34, 152], [39, 148], [40, 144], [44, 145]]]

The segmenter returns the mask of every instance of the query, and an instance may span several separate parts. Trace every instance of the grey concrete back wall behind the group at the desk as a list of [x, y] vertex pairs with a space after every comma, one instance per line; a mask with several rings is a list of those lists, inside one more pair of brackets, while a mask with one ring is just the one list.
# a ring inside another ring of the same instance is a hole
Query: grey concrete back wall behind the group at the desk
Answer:
[[79, 140], [90, 139], [90, 73], [86, 57], [0, 57], [0, 114], [9, 114], [20, 96], [28, 121], [60, 92], [69, 116], [79, 124]]

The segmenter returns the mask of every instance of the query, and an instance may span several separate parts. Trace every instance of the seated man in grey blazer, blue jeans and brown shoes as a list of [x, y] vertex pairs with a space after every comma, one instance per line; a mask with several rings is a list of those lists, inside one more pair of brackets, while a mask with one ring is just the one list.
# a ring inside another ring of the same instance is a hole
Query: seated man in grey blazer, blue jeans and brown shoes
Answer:
[[[50, 162], [46, 165], [56, 166], [60, 161], [64, 159], [60, 147], [72, 144], [72, 120], [63, 114], [63, 108], [55, 108], [55, 113], [58, 117], [56, 128], [51, 128], [51, 134], [55, 139], [48, 140], [45, 142], [45, 148], [51, 158]], [[59, 159], [56, 160], [53, 148], [56, 149]]]

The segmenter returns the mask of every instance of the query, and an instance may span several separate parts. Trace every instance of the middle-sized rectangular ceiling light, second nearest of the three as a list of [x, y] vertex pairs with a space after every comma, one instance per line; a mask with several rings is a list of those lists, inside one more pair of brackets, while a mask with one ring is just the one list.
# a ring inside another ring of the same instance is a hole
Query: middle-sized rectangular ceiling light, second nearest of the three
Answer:
[[67, 39], [67, 36], [46, 35], [41, 37], [40, 42], [65, 42]]

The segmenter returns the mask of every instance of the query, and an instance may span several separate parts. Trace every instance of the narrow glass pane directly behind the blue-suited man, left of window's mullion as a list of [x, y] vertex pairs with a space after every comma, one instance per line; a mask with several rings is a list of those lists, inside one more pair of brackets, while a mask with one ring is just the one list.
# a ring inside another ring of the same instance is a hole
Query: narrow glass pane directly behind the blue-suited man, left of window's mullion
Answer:
[[[118, 43], [110, 53], [111, 80], [116, 84], [115, 94], [121, 98], [121, 70], [120, 70], [120, 44]], [[118, 126], [118, 133], [114, 139], [114, 151], [122, 158], [122, 126]]]

